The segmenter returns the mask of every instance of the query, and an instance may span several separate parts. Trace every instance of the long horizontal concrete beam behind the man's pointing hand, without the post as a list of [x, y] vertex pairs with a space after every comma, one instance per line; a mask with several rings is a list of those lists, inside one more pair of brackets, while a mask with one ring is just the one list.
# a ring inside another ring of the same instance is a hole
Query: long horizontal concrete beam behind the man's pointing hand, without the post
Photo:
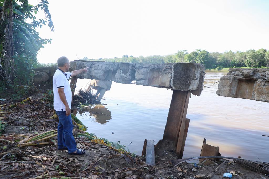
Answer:
[[137, 85], [171, 88], [180, 91], [192, 91], [200, 95], [203, 90], [205, 69], [202, 64], [134, 64], [100, 61], [72, 61], [72, 70], [89, 67], [87, 73], [78, 78], [111, 80], [130, 84], [136, 80]]

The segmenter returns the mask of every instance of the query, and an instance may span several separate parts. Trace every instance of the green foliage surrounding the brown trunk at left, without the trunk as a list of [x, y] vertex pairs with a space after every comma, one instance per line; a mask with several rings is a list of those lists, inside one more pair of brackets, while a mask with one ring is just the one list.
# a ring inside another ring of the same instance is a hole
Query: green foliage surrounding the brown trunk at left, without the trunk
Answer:
[[[1, 74], [1, 86], [13, 88], [16, 91], [14, 98], [19, 98], [26, 95], [33, 88], [32, 79], [34, 76], [34, 65], [37, 63], [37, 52], [44, 48], [44, 44], [51, 43], [51, 39], [43, 39], [36, 31], [48, 24], [52, 31], [54, 26], [51, 20], [51, 15], [48, 10], [47, 0], [40, 0], [37, 6], [28, 4], [27, 0], [13, 0], [13, 43], [14, 43], [14, 62], [11, 61], [12, 68], [14, 68], [14, 80], [12, 82], [3, 82], [4, 75]], [[0, 4], [1, 5], [1, 4]], [[39, 10], [44, 10], [46, 20], [36, 19], [36, 14]], [[9, 10], [9, 9], [7, 9]], [[1, 19], [3, 20], [3, 19]], [[0, 58], [4, 57], [5, 46], [5, 26], [7, 19], [2, 21], [0, 27]], [[7, 43], [7, 42], [6, 42]], [[4, 66], [4, 60], [1, 60]]]

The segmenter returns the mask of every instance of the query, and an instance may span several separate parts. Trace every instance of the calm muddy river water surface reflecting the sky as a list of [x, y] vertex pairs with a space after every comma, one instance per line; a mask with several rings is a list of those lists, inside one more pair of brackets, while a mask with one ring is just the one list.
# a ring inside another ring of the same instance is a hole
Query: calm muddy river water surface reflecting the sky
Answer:
[[[201, 95], [191, 95], [187, 118], [190, 118], [183, 158], [200, 156], [203, 139], [220, 146], [222, 156], [269, 162], [269, 103], [217, 96], [221, 76], [226, 72], [205, 75]], [[89, 79], [78, 79], [84, 88]], [[214, 84], [214, 85], [213, 85]], [[112, 82], [101, 101], [89, 106], [77, 117], [87, 132], [126, 145], [141, 155], [144, 139], [162, 139], [172, 91], [164, 88]], [[113, 132], [113, 134], [112, 134]]]

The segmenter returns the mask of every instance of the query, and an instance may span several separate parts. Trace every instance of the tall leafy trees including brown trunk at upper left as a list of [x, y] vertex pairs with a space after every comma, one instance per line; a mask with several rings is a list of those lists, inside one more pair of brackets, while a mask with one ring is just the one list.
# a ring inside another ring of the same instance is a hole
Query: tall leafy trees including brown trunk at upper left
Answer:
[[[23, 61], [23, 54], [37, 62], [37, 52], [44, 48], [43, 44], [51, 43], [51, 39], [43, 39], [36, 31], [37, 27], [48, 25], [54, 31], [47, 0], [38, 0], [36, 6], [28, 0], [0, 0], [0, 80], [11, 81], [16, 75], [15, 59]], [[43, 10], [45, 20], [37, 20], [35, 14]], [[26, 21], [32, 20], [31, 23]], [[17, 63], [18, 64], [18, 63]]]

